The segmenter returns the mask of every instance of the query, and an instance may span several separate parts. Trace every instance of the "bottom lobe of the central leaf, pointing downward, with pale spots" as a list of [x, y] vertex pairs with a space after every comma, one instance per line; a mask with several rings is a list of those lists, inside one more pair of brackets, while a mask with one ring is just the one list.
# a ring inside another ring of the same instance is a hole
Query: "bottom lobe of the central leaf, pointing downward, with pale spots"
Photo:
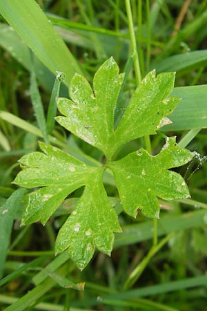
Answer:
[[121, 232], [117, 214], [110, 205], [102, 182], [103, 170], [92, 176], [77, 207], [61, 227], [56, 252], [68, 248], [70, 258], [83, 270], [92, 258], [95, 247], [110, 255], [113, 232]]

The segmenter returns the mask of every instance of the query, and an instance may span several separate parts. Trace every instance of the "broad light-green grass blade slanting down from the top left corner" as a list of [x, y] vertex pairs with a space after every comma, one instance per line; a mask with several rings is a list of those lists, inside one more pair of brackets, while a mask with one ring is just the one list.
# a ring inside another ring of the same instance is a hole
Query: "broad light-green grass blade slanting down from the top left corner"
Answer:
[[34, 0], [0, 1], [0, 12], [52, 73], [63, 71], [66, 84], [81, 68]]

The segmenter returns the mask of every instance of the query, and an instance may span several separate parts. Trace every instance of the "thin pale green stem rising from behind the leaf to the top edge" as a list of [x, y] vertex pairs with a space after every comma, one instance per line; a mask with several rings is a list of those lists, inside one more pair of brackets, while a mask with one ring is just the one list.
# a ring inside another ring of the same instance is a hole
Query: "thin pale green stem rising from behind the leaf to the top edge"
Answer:
[[136, 82], [137, 85], [141, 82], [141, 70], [139, 66], [139, 55], [137, 52], [137, 43], [136, 43], [136, 38], [135, 38], [135, 30], [134, 30], [134, 25], [133, 25], [133, 20], [132, 20], [132, 10], [130, 6], [130, 0], [125, 0], [126, 3], [126, 13], [128, 17], [128, 28], [130, 32], [130, 43], [132, 46], [132, 56], [134, 60], [134, 65], [135, 65], [135, 77], [136, 77]]

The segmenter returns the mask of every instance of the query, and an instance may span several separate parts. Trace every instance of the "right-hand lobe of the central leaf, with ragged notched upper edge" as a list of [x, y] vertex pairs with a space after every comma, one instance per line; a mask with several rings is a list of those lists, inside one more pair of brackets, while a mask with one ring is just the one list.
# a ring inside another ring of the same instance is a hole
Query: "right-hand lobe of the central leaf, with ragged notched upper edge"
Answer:
[[170, 138], [157, 156], [141, 149], [109, 162], [126, 213], [136, 217], [137, 209], [141, 209], [145, 216], [158, 218], [157, 197], [164, 200], [188, 198], [190, 194], [184, 178], [167, 169], [186, 164], [193, 157], [193, 153], [175, 145], [175, 138]]

